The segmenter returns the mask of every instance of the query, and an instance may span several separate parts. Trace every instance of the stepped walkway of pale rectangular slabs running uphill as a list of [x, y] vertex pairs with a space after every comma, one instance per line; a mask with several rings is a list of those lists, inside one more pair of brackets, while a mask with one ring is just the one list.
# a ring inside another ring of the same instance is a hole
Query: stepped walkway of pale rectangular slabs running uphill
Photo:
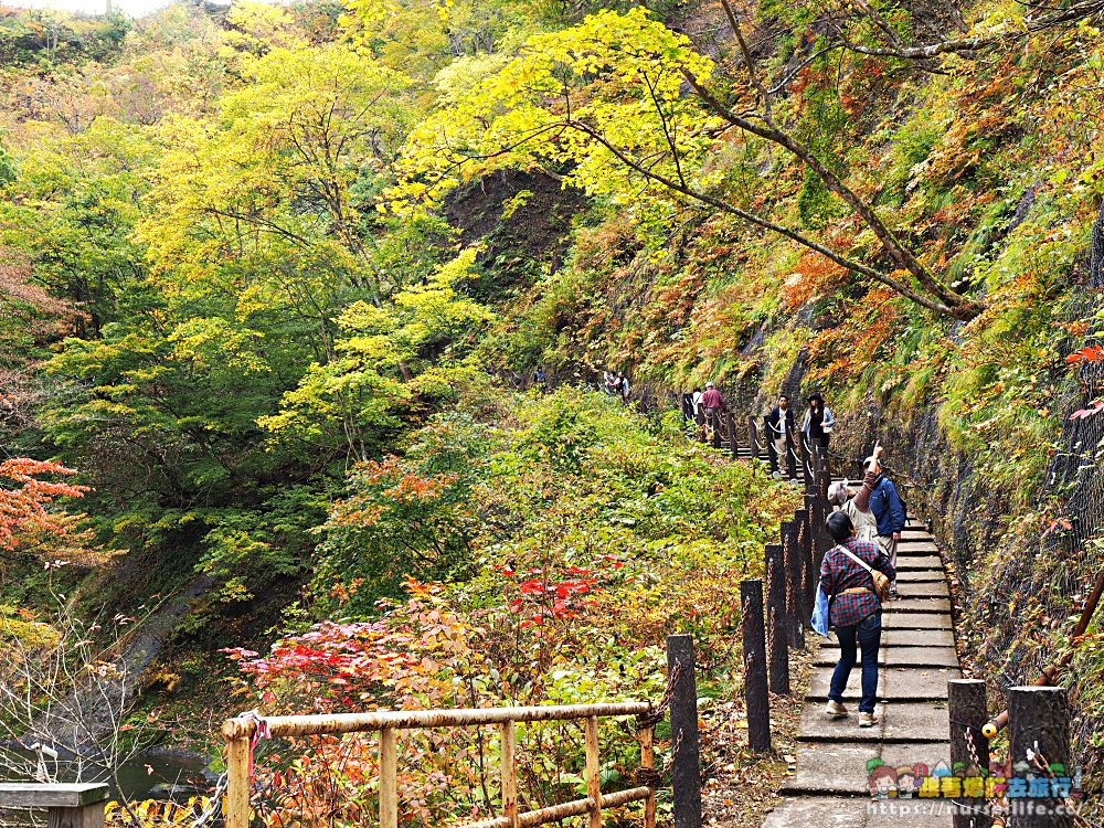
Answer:
[[[949, 761], [947, 681], [962, 678], [951, 623], [946, 574], [934, 539], [910, 521], [898, 551], [900, 597], [882, 613], [881, 669], [878, 682], [881, 722], [858, 725], [861, 669], [851, 671], [845, 696], [850, 715], [825, 715], [828, 682], [838, 644], [826, 640], [816, 657], [802, 716], [797, 769], [783, 786], [783, 802], [764, 828], [910, 828], [949, 827], [946, 803], [938, 799], [890, 799], [925, 813], [872, 813], [867, 763], [888, 765]], [[932, 813], [935, 810], [936, 813]]]

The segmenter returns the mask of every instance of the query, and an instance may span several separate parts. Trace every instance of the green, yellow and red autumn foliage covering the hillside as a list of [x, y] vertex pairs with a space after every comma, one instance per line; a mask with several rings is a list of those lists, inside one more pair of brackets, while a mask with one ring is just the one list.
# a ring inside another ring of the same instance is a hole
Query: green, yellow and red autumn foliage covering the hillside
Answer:
[[[978, 675], [1032, 677], [1100, 569], [1102, 25], [1098, 0], [4, 11], [6, 617], [198, 594], [153, 721], [658, 698], [673, 631], [734, 698], [735, 584], [796, 490], [666, 416], [714, 380], [742, 414], [822, 391], [841, 464], [885, 442]], [[638, 410], [583, 390], [607, 368]], [[1101, 654], [1093, 626], [1066, 679], [1091, 771]], [[412, 822], [489, 809], [482, 742], [439, 747]], [[374, 760], [340, 750], [288, 789], [354, 768], [355, 819]], [[580, 757], [538, 755], [552, 802]]]

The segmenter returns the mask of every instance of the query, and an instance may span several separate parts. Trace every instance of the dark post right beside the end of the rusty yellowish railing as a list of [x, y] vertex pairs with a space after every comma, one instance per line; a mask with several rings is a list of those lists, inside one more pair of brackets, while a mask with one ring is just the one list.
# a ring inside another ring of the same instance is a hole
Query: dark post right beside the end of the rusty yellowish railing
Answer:
[[667, 675], [675, 677], [670, 701], [675, 828], [701, 828], [698, 682], [694, 679], [693, 638], [690, 636], [667, 636]]

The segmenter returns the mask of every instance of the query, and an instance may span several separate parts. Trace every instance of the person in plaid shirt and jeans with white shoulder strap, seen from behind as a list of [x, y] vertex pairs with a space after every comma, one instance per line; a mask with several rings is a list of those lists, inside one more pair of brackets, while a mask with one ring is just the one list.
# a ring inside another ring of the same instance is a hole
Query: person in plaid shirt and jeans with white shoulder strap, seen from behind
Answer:
[[874, 591], [872, 567], [891, 581], [896, 570], [877, 543], [854, 537], [854, 526], [843, 512], [832, 512], [827, 520], [828, 534], [836, 542], [820, 564], [820, 588], [828, 596], [828, 620], [839, 640], [839, 661], [832, 672], [826, 713], [843, 719], [843, 692], [857, 647], [862, 652], [862, 699], [859, 702], [859, 726], [878, 723], [874, 703], [878, 699], [878, 648], [882, 638], [882, 603]]

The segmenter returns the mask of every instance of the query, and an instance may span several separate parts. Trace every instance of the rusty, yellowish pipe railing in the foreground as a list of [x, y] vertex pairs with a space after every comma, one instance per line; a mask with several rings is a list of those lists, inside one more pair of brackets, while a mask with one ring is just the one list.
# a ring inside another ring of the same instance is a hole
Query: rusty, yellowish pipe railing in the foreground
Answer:
[[[590, 815], [590, 828], [602, 828], [602, 809], [628, 803], [645, 804], [645, 828], [656, 825], [656, 792], [639, 786], [613, 794], [602, 794], [599, 779], [598, 719], [629, 716], [640, 719], [637, 739], [640, 743], [640, 766], [655, 765], [652, 728], [655, 708], [650, 702], [608, 704], [566, 704], [532, 708], [488, 708], [461, 710], [401, 710], [374, 713], [333, 713], [330, 715], [278, 715], [265, 718], [266, 732], [272, 736], [309, 736], [337, 733], [380, 733], [380, 828], [399, 825], [399, 733], [427, 728], [469, 728], [496, 724], [501, 740], [500, 817], [471, 822], [467, 828], [527, 828], [555, 822], [573, 816]], [[562, 805], [521, 813], [518, 809], [516, 767], [517, 722], [577, 721], [584, 722], [586, 798]], [[250, 753], [258, 721], [254, 716], [227, 720], [222, 726], [226, 740], [226, 828], [250, 826]]]

